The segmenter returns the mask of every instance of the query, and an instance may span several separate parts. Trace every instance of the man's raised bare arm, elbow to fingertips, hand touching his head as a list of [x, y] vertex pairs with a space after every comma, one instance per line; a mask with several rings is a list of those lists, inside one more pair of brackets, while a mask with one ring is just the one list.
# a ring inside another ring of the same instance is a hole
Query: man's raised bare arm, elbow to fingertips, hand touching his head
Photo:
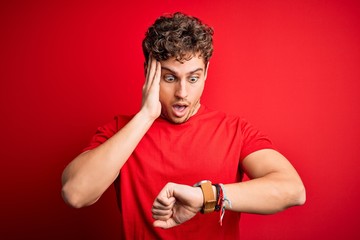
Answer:
[[62, 195], [69, 205], [83, 207], [96, 202], [113, 183], [135, 147], [160, 116], [161, 66], [150, 58], [143, 87], [141, 110], [114, 136], [97, 148], [77, 156], [62, 175]]

